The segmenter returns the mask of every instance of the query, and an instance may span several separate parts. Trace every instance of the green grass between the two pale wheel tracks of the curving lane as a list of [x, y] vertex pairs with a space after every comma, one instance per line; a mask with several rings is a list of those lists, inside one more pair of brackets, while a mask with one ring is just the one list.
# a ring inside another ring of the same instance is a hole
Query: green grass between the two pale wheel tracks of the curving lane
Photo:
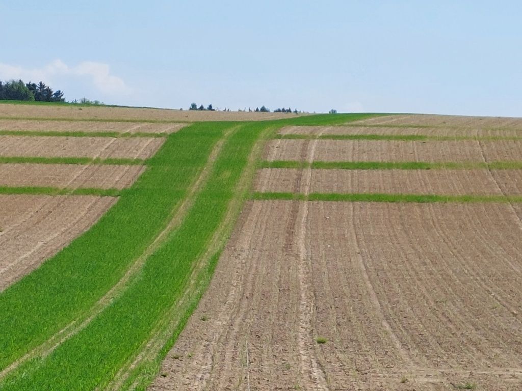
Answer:
[[162, 314], [183, 295], [192, 265], [205, 254], [226, 217], [264, 127], [243, 126], [226, 141], [183, 224], [149, 257], [124, 295], [41, 362], [9, 376], [4, 391], [103, 389], [121, 365], [139, 353]]

